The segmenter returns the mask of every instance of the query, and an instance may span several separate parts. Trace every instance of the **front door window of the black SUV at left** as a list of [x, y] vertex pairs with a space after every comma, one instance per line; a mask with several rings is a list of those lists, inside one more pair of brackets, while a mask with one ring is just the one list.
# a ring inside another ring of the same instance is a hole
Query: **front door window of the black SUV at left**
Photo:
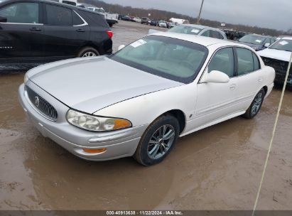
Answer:
[[0, 16], [7, 18], [7, 23], [39, 23], [38, 3], [16, 3], [0, 9]]

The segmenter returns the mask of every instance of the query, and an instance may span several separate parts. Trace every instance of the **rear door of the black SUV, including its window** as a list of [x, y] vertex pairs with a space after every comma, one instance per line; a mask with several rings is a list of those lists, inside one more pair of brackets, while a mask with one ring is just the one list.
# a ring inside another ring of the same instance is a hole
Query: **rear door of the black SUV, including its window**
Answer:
[[88, 40], [90, 29], [70, 8], [43, 4], [45, 52], [55, 60], [77, 56], [80, 46]]

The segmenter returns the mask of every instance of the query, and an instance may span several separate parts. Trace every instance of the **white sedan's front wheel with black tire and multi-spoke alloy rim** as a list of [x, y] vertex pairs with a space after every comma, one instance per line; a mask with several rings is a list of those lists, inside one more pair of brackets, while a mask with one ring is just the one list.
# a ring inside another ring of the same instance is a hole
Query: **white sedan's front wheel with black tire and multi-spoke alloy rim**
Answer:
[[159, 117], [144, 132], [134, 158], [144, 166], [160, 163], [175, 146], [179, 131], [178, 119], [171, 115]]

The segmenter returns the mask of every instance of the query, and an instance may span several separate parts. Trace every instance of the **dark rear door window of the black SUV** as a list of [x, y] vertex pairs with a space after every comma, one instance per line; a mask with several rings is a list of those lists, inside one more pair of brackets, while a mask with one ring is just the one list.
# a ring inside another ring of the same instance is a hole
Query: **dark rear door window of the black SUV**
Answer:
[[72, 11], [63, 6], [45, 4], [46, 24], [50, 26], [72, 26]]

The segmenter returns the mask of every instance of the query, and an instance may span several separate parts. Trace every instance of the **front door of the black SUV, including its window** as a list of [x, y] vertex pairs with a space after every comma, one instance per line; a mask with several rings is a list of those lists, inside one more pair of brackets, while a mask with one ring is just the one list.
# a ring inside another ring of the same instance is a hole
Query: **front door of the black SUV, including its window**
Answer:
[[7, 18], [0, 23], [0, 58], [3, 63], [43, 55], [43, 13], [38, 2], [23, 1], [0, 9]]

